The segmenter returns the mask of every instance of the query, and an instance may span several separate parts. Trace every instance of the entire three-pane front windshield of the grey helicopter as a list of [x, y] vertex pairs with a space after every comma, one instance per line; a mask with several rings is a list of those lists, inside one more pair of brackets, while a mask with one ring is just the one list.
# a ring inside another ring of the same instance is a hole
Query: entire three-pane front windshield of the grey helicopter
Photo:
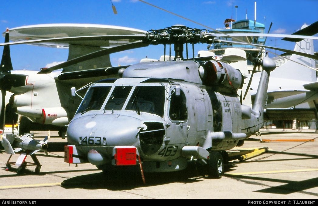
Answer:
[[[147, 112], [163, 117], [165, 88], [160, 86], [92, 86], [85, 95], [76, 114], [90, 110], [130, 110]], [[110, 95], [109, 95], [110, 94]], [[109, 97], [108, 97], [109, 96]], [[106, 100], [105, 107], [103, 107]]]

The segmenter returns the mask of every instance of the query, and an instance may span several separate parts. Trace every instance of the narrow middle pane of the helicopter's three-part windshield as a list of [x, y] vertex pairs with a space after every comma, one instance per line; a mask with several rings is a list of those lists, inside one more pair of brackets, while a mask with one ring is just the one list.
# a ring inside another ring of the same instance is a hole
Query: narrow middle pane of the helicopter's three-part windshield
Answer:
[[109, 97], [105, 110], [121, 110], [132, 86], [116, 86]]

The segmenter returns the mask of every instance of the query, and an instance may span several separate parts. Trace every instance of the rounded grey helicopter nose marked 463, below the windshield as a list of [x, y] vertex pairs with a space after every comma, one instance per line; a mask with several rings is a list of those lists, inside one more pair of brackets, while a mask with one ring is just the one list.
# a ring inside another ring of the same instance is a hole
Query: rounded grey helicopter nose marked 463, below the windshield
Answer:
[[67, 140], [84, 146], [132, 146], [141, 128], [142, 121], [131, 116], [80, 116], [69, 123]]

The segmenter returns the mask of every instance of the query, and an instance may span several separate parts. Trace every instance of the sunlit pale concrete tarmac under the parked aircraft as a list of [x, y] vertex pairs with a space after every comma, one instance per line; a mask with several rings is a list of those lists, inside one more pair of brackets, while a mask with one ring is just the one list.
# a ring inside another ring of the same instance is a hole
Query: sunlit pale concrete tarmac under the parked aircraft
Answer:
[[[220, 179], [204, 177], [196, 165], [189, 165], [189, 169], [179, 172], [145, 174], [144, 184], [138, 168], [120, 168], [107, 176], [89, 163], [69, 165], [64, 162], [64, 152], [54, 151], [48, 156], [37, 153], [42, 164], [39, 174], [34, 172], [35, 166], [28, 166], [25, 174], [17, 175], [15, 166], [6, 171], [9, 155], [3, 152], [0, 154], [0, 199], [317, 200], [318, 134], [306, 131], [261, 130], [261, 136], [251, 136], [251, 141], [230, 152], [255, 148], [268, 151], [246, 160], [231, 161], [230, 168]], [[46, 135], [45, 132], [35, 134], [40, 140]], [[66, 143], [57, 133], [50, 135], [49, 143]], [[14, 155], [10, 161], [17, 158], [18, 155]], [[31, 157], [26, 160], [32, 161]]]

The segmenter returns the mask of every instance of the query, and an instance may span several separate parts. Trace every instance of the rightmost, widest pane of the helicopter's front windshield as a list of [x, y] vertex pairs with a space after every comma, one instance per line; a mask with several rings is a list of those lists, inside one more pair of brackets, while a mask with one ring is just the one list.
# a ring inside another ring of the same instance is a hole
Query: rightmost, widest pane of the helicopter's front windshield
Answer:
[[165, 89], [162, 86], [137, 86], [125, 110], [147, 112], [163, 117]]

